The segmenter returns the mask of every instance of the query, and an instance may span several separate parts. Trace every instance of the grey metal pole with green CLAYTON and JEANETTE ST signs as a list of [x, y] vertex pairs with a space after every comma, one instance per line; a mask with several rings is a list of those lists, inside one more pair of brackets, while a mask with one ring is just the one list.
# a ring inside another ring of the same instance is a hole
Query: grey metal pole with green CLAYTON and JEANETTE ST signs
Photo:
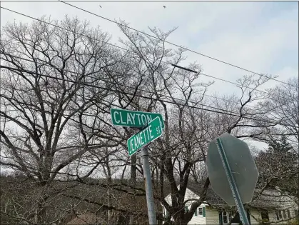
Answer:
[[111, 109], [112, 123], [116, 126], [138, 127], [140, 131], [131, 136], [128, 141], [128, 154], [132, 156], [141, 149], [143, 174], [146, 179], [146, 203], [148, 206], [148, 222], [157, 224], [155, 203], [153, 201], [153, 187], [151, 183], [151, 169], [148, 161], [146, 145], [158, 139], [163, 131], [163, 118], [161, 114], [152, 114], [142, 111], [128, 111]]

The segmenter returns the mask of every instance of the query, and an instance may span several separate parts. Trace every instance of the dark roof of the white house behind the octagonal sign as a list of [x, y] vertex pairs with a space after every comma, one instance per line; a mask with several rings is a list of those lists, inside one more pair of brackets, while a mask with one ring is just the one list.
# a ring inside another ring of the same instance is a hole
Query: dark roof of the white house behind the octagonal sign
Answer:
[[[187, 188], [193, 191], [194, 194], [200, 196], [203, 184], [194, 184], [189, 182]], [[264, 209], [279, 209], [283, 205], [290, 204], [291, 202], [295, 204], [292, 196], [283, 195], [280, 191], [263, 190], [261, 193], [260, 192], [260, 189], [255, 189], [253, 193], [253, 200], [247, 204], [248, 206]], [[206, 202], [212, 206], [228, 206], [228, 204], [226, 204], [225, 201], [223, 201], [223, 199], [221, 199], [221, 197], [213, 191], [211, 186], [208, 187]]]

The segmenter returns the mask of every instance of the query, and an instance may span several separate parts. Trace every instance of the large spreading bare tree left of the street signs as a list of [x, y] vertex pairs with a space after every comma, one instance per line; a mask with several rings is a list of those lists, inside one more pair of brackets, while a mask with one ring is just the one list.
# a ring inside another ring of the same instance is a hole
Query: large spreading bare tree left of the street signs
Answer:
[[7, 24], [0, 45], [1, 166], [43, 190], [34, 209], [38, 224], [46, 221], [45, 202], [54, 194], [49, 186], [59, 172], [91, 149], [118, 145], [112, 138], [94, 141], [105, 124], [93, 124], [89, 135], [83, 129], [83, 121], [92, 124], [92, 116], [86, 119], [91, 106], [95, 114], [110, 107], [109, 85], [101, 79], [118, 56], [105, 44], [108, 35], [78, 19], [42, 20]]

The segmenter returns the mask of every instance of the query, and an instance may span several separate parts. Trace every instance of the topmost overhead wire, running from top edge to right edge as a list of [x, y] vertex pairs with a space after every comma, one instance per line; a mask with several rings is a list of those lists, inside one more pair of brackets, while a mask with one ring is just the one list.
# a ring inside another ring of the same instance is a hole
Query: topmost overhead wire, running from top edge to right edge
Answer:
[[[61, 0], [59, 0], [59, 1], [61, 1]], [[204, 57], [206, 57], [206, 58], [208, 58], [208, 59], [213, 59], [213, 60], [215, 60], [215, 61], [219, 61], [219, 62], [221, 62], [221, 63], [223, 63], [223, 64], [227, 64], [228, 66], [233, 66], [233, 67], [235, 67], [235, 68], [242, 69], [243, 71], [248, 71], [248, 72], [250, 72], [250, 73], [252, 73], [252, 74], [255, 74], [255, 75], [258, 75], [258, 76], [265, 76], [264, 74], [258, 74], [258, 73], [256, 73], [255, 71], [250, 71], [249, 69], [244, 69], [244, 68], [242, 68], [242, 67], [240, 67], [240, 66], [235, 66], [234, 64], [230, 64], [230, 63], [225, 62], [225, 61], [222, 61], [222, 60], [220, 60], [220, 59], [213, 58], [213, 57], [208, 56], [208, 55], [206, 55], [206, 54], [202, 54], [202, 53], [200, 53], [200, 52], [198, 52], [198, 51], [194, 51], [194, 50], [192, 50], [192, 49], [188, 49], [188, 48], [185, 48], [185, 47], [183, 47], [183, 46], [179, 46], [178, 44], [174, 44], [174, 43], [172, 43], [172, 42], [170, 42], [170, 41], [165, 41], [165, 40], [163, 40], [163, 39], [158, 38], [157, 36], [153, 36], [153, 35], [151, 35], [151, 34], [147, 34], [147, 33], [144, 32], [144, 31], [139, 31], [139, 30], [134, 29], [134, 28], [132, 28], [132, 27], [130, 27], [130, 26], [126, 26], [126, 25], [124, 25], [124, 24], [120, 24], [120, 23], [118, 23], [118, 22], [116, 22], [116, 21], [113, 21], [112, 19], [108, 19], [108, 18], [106, 18], [106, 17], [104, 17], [104, 16], [100, 16], [100, 15], [98, 15], [98, 14], [94, 14], [94, 13], [91, 12], [91, 11], [88, 11], [88, 10], [86, 10], [86, 9], [82, 9], [81, 7], [78, 7], [78, 6], [74, 6], [73, 4], [69, 4], [68, 2], [65, 2], [65, 1], [61, 1], [61, 2], [64, 3], [64, 4], [67, 4], [67, 5], [69, 5], [69, 6], [72, 6], [72, 7], [76, 8], [76, 9], [79, 9], [79, 10], [81, 10], [81, 11], [85, 11], [85, 12], [88, 13], [88, 14], [92, 14], [92, 15], [94, 15], [94, 16], [98, 16], [99, 18], [101, 18], [101, 19], [105, 19], [106, 21], [110, 21], [110, 22], [112, 22], [112, 23], [114, 23], [114, 24], [118, 24], [119, 26], [124, 26], [124, 27], [126, 27], [126, 28], [128, 28], [128, 29], [131, 29], [131, 30], [133, 30], [133, 31], [136, 31], [136, 32], [138, 32], [138, 33], [144, 34], [144, 35], [146, 35], [146, 36], [150, 36], [150, 37], [152, 37], [152, 38], [154, 38], [154, 39], [158, 39], [158, 40], [160, 40], [160, 41], [164, 41], [164, 42], [167, 43], [167, 44], [171, 44], [171, 45], [173, 45], [173, 46], [179, 47], [179, 48], [184, 49], [184, 50], [186, 50], [186, 51], [191, 51], [191, 52], [193, 52], [193, 53], [195, 53], [195, 54], [204, 56]], [[280, 80], [278, 80], [278, 79], [274, 79], [274, 78], [271, 78], [271, 77], [269, 77], [269, 76], [265, 76], [265, 77], [268, 78], [268, 79], [272, 79], [272, 80], [274, 80], [274, 81], [278, 81], [278, 82], [283, 83], [283, 84], [288, 84], [288, 83], [286, 83], [286, 82], [284, 82], [284, 81], [280, 81]], [[288, 84], [288, 85], [290, 85], [290, 86], [294, 86], [293, 84]]]

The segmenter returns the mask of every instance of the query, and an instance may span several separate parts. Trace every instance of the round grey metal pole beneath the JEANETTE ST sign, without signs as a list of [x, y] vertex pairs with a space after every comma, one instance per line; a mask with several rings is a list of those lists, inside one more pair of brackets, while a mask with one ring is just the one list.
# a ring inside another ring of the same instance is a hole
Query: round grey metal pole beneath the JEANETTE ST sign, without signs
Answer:
[[141, 158], [143, 166], [143, 174], [146, 178], [146, 203], [148, 205], [148, 222], [150, 225], [156, 225], [156, 210], [153, 201], [153, 186], [151, 183], [151, 170], [148, 161], [148, 149], [146, 146], [141, 149]]

